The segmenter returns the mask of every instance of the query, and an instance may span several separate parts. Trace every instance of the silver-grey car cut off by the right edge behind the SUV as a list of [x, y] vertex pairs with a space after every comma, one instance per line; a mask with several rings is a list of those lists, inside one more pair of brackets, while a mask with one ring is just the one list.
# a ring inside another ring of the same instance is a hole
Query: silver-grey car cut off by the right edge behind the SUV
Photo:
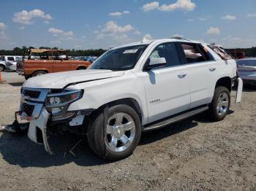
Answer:
[[238, 75], [246, 85], [256, 85], [256, 58], [245, 58], [236, 61]]

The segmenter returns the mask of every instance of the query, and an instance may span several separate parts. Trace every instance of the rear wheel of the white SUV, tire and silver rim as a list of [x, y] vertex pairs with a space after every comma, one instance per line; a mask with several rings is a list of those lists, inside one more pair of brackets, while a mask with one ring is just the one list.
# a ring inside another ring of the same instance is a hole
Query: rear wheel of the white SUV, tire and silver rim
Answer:
[[212, 120], [223, 120], [230, 109], [230, 91], [227, 87], [219, 86], [214, 91], [214, 98], [211, 101], [209, 114]]

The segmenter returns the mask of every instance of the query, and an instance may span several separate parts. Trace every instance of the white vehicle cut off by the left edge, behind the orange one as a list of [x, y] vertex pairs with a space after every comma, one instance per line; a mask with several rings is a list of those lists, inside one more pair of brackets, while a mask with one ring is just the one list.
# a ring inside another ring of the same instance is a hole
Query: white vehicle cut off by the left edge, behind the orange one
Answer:
[[0, 60], [0, 71], [5, 69], [16, 70], [16, 62], [21, 59], [21, 56], [4, 55]]

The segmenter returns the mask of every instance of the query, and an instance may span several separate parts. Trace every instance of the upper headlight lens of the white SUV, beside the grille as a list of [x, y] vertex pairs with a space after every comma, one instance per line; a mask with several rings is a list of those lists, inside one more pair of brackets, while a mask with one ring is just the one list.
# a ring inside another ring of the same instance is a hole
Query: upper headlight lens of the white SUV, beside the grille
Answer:
[[77, 101], [81, 98], [81, 95], [82, 93], [80, 90], [49, 94], [47, 96], [45, 105], [47, 107], [64, 106], [74, 101]]

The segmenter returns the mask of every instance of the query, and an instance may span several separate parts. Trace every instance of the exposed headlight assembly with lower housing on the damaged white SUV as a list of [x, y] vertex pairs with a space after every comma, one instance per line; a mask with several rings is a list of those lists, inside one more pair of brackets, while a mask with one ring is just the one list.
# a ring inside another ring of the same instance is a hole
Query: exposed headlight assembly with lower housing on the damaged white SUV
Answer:
[[52, 114], [53, 121], [65, 120], [75, 114], [75, 112], [67, 112], [69, 105], [82, 98], [82, 95], [82, 90], [48, 94], [45, 101], [45, 108]]

